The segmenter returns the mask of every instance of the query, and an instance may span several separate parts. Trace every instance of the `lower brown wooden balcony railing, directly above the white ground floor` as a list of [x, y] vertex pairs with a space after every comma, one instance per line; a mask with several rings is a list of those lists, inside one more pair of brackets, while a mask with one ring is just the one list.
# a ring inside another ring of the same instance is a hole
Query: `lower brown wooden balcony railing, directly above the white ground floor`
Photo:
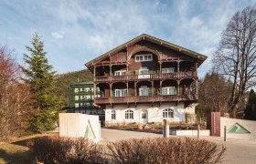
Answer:
[[190, 95], [166, 95], [166, 96], [147, 96], [147, 97], [97, 97], [94, 98], [95, 104], [124, 104], [124, 103], [152, 103], [152, 102], [176, 102], [176, 101], [196, 101], [196, 94]]

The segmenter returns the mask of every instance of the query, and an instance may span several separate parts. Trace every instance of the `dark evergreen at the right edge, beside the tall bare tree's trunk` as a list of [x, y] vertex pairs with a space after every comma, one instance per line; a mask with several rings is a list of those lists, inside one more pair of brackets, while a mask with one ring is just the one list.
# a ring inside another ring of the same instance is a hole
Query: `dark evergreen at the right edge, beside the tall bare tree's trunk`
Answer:
[[256, 120], [256, 94], [253, 89], [249, 93], [248, 103], [244, 110], [244, 118]]

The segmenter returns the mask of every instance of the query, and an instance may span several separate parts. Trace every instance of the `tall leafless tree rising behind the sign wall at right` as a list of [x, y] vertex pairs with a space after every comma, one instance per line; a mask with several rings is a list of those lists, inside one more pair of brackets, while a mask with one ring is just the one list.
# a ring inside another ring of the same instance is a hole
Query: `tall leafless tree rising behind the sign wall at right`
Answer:
[[256, 84], [255, 50], [256, 10], [246, 7], [229, 21], [213, 60], [215, 69], [232, 82], [229, 112], [233, 118], [246, 91]]

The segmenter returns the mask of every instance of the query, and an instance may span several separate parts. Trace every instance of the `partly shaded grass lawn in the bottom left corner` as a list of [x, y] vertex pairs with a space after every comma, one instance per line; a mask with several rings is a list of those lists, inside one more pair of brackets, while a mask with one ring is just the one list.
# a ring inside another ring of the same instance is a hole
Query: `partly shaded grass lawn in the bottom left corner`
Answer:
[[0, 142], [0, 163], [32, 163], [32, 157], [26, 145], [27, 140], [31, 138], [40, 138], [42, 136], [54, 136], [58, 133], [44, 133], [31, 135], [22, 138], [15, 138], [13, 142]]

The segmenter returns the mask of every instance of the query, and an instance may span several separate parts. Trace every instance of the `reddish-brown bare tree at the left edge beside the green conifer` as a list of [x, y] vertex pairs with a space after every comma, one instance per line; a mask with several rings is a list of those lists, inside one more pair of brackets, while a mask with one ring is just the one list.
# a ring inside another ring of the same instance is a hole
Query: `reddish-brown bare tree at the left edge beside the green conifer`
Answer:
[[18, 135], [29, 126], [32, 97], [12, 51], [0, 46], [0, 140]]

